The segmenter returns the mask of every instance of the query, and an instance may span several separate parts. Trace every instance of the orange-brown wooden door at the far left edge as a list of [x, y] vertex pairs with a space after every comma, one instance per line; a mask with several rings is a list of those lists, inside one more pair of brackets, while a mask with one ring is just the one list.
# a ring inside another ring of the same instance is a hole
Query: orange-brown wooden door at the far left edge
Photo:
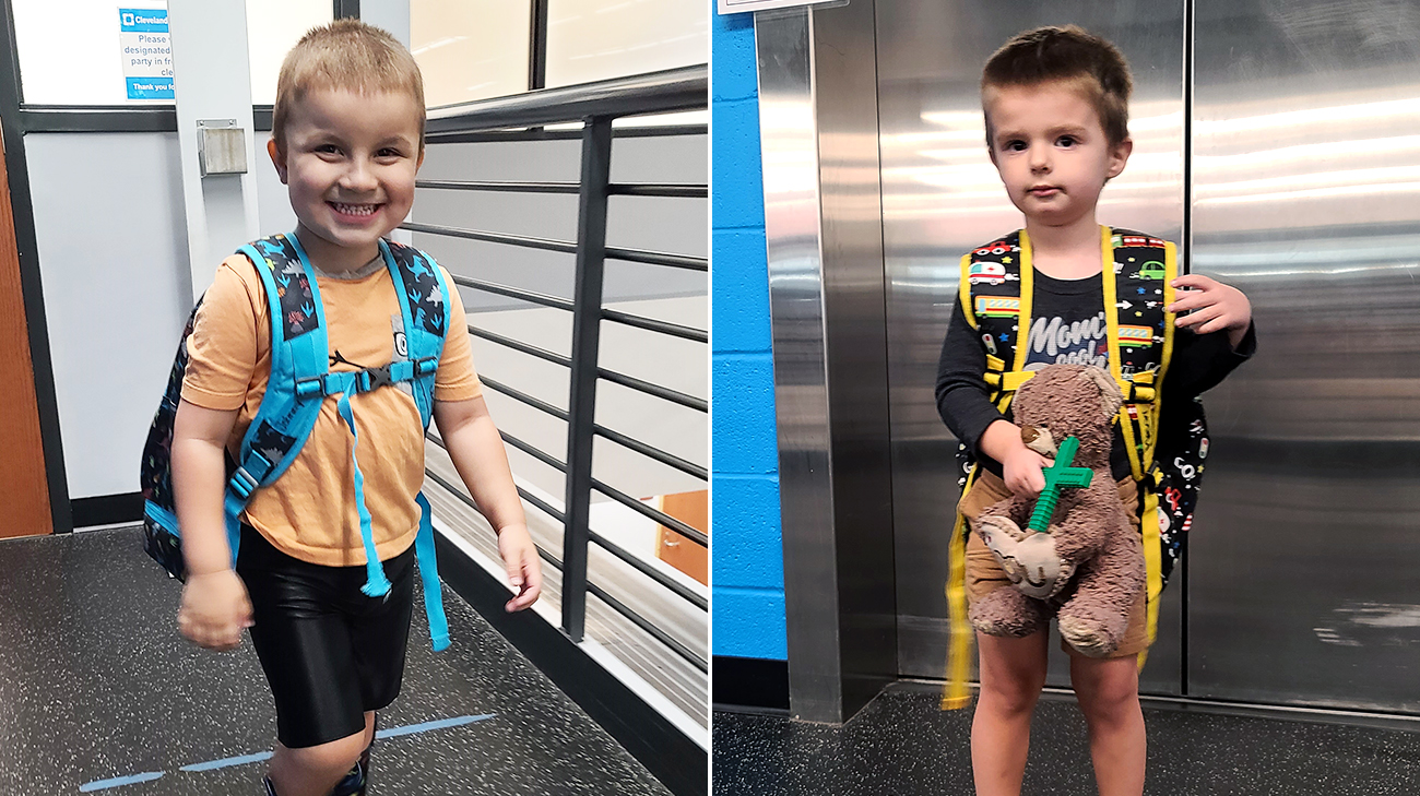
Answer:
[[53, 532], [10, 180], [0, 156], [0, 536]]

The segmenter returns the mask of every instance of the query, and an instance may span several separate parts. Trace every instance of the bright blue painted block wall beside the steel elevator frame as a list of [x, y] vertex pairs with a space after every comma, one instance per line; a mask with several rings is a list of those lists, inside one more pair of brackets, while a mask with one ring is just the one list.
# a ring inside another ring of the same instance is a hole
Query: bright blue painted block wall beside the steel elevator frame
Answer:
[[714, 654], [787, 660], [754, 16], [707, 1]]

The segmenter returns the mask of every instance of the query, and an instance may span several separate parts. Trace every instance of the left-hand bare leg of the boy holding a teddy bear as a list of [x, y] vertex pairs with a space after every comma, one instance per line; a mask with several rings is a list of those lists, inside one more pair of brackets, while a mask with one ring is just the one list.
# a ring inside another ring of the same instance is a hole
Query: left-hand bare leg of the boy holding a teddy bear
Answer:
[[1031, 714], [1045, 685], [1047, 633], [1001, 639], [977, 633], [981, 694], [971, 719], [971, 776], [977, 796], [1020, 796]]

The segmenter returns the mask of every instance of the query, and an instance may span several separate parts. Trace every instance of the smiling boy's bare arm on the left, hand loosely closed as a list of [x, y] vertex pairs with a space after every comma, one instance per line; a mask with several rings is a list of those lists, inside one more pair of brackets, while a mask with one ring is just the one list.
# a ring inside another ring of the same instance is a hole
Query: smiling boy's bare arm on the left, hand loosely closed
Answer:
[[251, 602], [231, 569], [223, 516], [227, 470], [223, 448], [237, 410], [178, 406], [173, 420], [172, 478], [187, 565], [178, 627], [197, 646], [230, 650], [251, 626]]

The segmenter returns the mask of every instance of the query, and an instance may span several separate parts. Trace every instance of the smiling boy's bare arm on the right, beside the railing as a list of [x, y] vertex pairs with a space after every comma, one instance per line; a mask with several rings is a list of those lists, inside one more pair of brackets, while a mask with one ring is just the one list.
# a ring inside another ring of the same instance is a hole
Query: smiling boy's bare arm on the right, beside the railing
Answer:
[[473, 502], [498, 534], [498, 553], [508, 582], [518, 590], [507, 603], [515, 612], [531, 606], [542, 590], [542, 568], [528, 535], [518, 497], [508, 468], [503, 438], [488, 414], [483, 396], [460, 402], [435, 402], [435, 423], [443, 437], [449, 458], [469, 487]]

